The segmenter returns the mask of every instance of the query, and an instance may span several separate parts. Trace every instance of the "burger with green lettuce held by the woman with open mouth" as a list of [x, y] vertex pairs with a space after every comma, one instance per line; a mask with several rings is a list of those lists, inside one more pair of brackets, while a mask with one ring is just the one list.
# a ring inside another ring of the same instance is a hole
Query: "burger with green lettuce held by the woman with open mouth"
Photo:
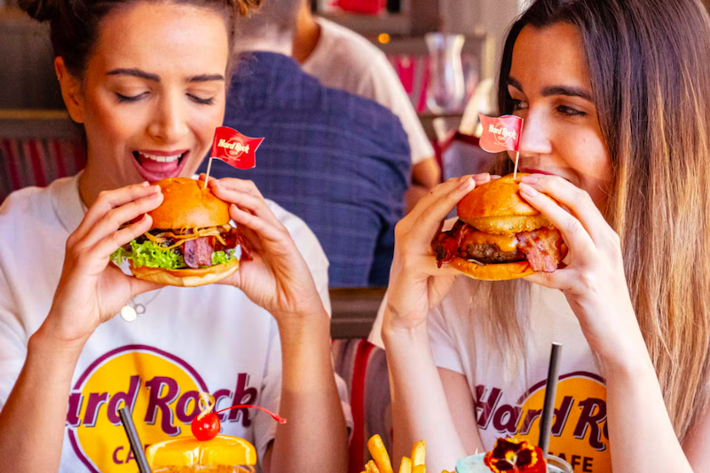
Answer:
[[163, 195], [161, 206], [148, 212], [153, 228], [118, 248], [111, 260], [118, 265], [128, 260], [139, 280], [171, 286], [210, 284], [237, 271], [241, 236], [230, 225], [229, 204], [194, 179], [170, 177], [153, 184]]

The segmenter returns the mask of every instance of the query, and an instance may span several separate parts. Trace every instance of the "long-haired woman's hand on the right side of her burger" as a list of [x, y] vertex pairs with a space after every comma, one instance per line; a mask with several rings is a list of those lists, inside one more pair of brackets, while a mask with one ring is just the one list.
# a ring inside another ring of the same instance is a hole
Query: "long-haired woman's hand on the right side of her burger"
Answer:
[[566, 267], [525, 279], [562, 290], [589, 346], [604, 363], [627, 364], [634, 353], [647, 353], [628, 293], [619, 235], [589, 194], [562, 177], [533, 174], [522, 181], [521, 195], [559, 229], [570, 251]]

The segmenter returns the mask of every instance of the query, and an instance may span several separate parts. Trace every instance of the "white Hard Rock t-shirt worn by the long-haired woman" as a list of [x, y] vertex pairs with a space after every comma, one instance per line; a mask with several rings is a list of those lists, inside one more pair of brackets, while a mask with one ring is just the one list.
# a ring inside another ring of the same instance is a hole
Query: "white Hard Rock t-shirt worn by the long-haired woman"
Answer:
[[[563, 348], [555, 406], [561, 415], [553, 421], [549, 452], [563, 457], [576, 473], [611, 471], [604, 379], [563, 293], [531, 285], [525, 373], [522, 357], [514, 370], [496, 350], [501, 341], [485, 329], [485, 305], [476, 296], [477, 284], [481, 282], [460, 276], [431, 312], [428, 327], [437, 366], [464, 374], [477, 399], [478, 432], [485, 449], [502, 437], [537, 445], [551, 343], [559, 342]], [[381, 318], [382, 313], [370, 335], [370, 342], [379, 346]]]

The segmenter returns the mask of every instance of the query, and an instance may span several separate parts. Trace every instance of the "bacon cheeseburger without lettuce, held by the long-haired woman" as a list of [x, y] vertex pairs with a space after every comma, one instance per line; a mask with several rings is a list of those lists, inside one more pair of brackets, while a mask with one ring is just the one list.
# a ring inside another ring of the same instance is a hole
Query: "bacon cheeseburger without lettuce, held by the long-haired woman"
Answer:
[[432, 242], [438, 267], [477, 280], [513, 280], [554, 272], [567, 248], [546, 217], [518, 193], [524, 173], [477, 186], [456, 207], [459, 220]]

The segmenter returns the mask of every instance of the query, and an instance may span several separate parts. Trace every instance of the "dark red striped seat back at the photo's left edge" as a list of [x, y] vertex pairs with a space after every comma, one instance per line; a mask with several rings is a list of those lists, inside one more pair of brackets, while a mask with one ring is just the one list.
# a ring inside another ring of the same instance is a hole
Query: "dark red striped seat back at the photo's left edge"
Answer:
[[0, 138], [0, 202], [22, 187], [74, 176], [85, 163], [78, 138]]

